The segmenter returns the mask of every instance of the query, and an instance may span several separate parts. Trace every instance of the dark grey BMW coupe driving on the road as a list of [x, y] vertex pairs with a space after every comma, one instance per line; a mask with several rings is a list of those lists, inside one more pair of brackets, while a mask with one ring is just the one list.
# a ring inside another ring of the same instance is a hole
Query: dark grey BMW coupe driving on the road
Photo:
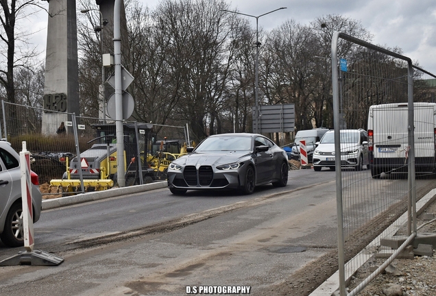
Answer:
[[188, 154], [171, 162], [168, 188], [175, 195], [191, 189], [237, 189], [252, 194], [254, 187], [286, 186], [286, 152], [261, 134], [209, 136]]

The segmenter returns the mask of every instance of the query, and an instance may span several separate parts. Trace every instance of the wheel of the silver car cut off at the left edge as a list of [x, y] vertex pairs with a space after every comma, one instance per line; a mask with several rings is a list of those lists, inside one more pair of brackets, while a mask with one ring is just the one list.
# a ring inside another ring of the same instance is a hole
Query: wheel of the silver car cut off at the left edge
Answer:
[[6, 216], [5, 228], [0, 236], [1, 241], [8, 247], [23, 247], [23, 207], [21, 204], [14, 204]]

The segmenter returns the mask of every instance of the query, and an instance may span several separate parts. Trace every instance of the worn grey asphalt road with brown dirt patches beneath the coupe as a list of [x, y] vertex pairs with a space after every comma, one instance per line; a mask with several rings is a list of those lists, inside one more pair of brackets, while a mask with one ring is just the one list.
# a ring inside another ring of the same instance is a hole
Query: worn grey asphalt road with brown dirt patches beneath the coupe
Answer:
[[[2, 267], [0, 291], [184, 295], [194, 286], [250, 286], [251, 295], [266, 295], [335, 249], [335, 186], [334, 171], [300, 170], [290, 171], [285, 188], [262, 186], [249, 196], [180, 197], [163, 188], [44, 210], [35, 249], [64, 262]], [[0, 245], [0, 260], [17, 251]]]

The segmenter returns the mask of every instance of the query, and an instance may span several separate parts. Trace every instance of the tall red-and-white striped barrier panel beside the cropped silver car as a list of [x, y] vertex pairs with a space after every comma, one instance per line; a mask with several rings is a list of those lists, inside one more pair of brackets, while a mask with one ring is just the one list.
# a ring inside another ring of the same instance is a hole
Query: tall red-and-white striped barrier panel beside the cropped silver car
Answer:
[[32, 211], [32, 180], [30, 177], [30, 152], [23, 141], [23, 151], [20, 152], [21, 168], [21, 200], [23, 205], [24, 247], [27, 251], [34, 249], [34, 217]]

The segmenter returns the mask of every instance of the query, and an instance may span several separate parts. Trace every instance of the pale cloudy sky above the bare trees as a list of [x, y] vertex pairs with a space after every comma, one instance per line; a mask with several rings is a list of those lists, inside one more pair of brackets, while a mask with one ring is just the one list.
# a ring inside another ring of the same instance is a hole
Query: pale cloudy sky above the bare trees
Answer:
[[[139, 0], [153, 9], [160, 0]], [[48, 3], [42, 1], [43, 3]], [[77, 1], [78, 3], [79, 1]], [[372, 34], [372, 43], [382, 47], [399, 47], [403, 56], [436, 75], [436, 1], [435, 0], [227, 0], [230, 10], [259, 16], [258, 25], [269, 32], [287, 20], [308, 25], [319, 16], [339, 14], [361, 22]], [[46, 5], [48, 8], [48, 4]], [[97, 8], [97, 5], [96, 5]], [[80, 7], [77, 13], [80, 14]], [[253, 28], [256, 18], [249, 18]], [[47, 16], [29, 18], [33, 32], [31, 42], [45, 50]]]

